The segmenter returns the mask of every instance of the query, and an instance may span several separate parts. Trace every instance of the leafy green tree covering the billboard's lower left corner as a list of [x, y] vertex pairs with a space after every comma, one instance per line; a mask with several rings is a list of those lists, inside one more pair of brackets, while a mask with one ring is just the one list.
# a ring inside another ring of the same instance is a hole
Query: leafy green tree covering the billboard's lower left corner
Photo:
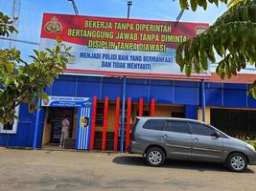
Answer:
[[[17, 32], [12, 27], [12, 20], [0, 12], [0, 35], [9, 36]], [[0, 122], [13, 121], [15, 107], [20, 103], [28, 103], [29, 111], [38, 109], [38, 99], [48, 99], [44, 89], [50, 86], [55, 77], [66, 68], [70, 47], [65, 47], [57, 40], [54, 49], [44, 52], [36, 51], [31, 55], [32, 62], [27, 63], [20, 57], [16, 49], [0, 49]], [[17, 64], [22, 66], [17, 67]]]

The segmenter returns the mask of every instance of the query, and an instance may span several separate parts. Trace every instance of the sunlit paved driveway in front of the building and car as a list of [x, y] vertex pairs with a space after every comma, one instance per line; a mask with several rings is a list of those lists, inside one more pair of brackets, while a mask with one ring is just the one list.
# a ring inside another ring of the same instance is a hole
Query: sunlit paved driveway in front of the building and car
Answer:
[[231, 173], [221, 165], [168, 161], [149, 167], [137, 155], [0, 147], [0, 190], [255, 190], [256, 166]]

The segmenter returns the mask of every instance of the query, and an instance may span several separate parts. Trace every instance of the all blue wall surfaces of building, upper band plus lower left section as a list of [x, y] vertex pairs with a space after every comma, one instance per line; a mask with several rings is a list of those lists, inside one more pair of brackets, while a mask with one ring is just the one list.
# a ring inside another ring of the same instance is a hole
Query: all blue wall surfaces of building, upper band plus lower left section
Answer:
[[[127, 93], [132, 101], [143, 97], [149, 103], [154, 98], [157, 103], [179, 104], [185, 106], [185, 116], [198, 118], [198, 106], [201, 101], [200, 82], [168, 81], [152, 79], [127, 80]], [[256, 100], [246, 96], [246, 84], [222, 84], [205, 82], [206, 106], [256, 108]], [[122, 98], [123, 79], [110, 77], [93, 77], [80, 75], [60, 75], [50, 88], [46, 88], [49, 96], [98, 96], [104, 100], [108, 96], [114, 101]], [[36, 147], [41, 146], [43, 131], [43, 108], [39, 115]], [[29, 114], [27, 106], [22, 104], [17, 134], [0, 134], [0, 145], [32, 147], [35, 129], [35, 114]]]

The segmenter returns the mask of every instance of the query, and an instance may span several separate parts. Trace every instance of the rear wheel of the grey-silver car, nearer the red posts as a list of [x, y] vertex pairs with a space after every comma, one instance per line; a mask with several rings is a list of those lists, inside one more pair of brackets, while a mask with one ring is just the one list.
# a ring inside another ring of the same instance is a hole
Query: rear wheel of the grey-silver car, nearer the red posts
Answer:
[[162, 166], [165, 162], [165, 153], [161, 148], [151, 147], [146, 153], [147, 163], [154, 167]]

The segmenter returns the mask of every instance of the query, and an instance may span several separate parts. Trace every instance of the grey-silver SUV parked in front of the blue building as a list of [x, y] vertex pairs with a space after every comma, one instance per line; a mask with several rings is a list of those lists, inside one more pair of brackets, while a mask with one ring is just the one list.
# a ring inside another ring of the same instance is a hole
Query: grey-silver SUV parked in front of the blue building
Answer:
[[223, 163], [234, 172], [244, 171], [247, 164], [256, 165], [252, 145], [186, 118], [137, 117], [129, 152], [146, 156], [151, 166], [161, 166], [166, 158]]

